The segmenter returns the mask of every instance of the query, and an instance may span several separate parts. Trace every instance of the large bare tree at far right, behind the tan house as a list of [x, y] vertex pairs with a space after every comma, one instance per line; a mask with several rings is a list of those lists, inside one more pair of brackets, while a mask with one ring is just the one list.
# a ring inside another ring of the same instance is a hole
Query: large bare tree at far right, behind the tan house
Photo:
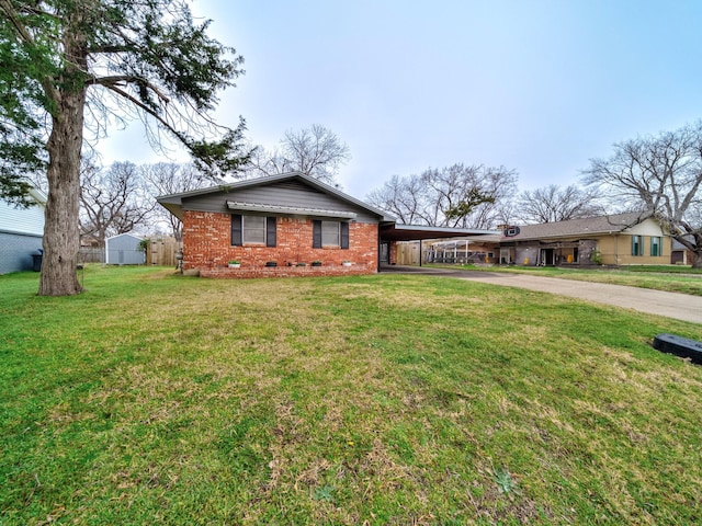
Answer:
[[632, 208], [645, 208], [691, 250], [702, 268], [702, 122], [614, 145], [592, 159], [585, 182]]

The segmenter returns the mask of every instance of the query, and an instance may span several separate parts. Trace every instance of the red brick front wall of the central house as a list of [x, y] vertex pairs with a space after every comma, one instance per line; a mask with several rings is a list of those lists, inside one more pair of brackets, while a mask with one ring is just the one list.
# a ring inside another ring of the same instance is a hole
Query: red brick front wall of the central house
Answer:
[[[377, 272], [377, 225], [351, 222], [349, 249], [313, 249], [313, 221], [297, 217], [276, 218], [276, 247], [231, 247], [229, 214], [192, 211], [183, 216], [183, 268], [199, 270], [203, 277], [283, 277], [352, 275]], [[241, 262], [228, 268], [229, 260]], [[265, 263], [275, 261], [276, 267]], [[321, 261], [321, 266], [312, 266]], [[343, 266], [350, 261], [351, 266]], [[306, 263], [306, 266], [296, 266]]]

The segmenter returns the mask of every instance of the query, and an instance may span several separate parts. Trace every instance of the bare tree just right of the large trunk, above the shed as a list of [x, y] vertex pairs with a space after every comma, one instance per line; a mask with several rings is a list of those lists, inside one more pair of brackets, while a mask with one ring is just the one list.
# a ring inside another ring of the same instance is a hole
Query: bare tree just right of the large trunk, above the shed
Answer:
[[115, 162], [107, 170], [84, 165], [80, 183], [80, 233], [99, 247], [111, 236], [146, 227], [156, 206], [131, 162]]

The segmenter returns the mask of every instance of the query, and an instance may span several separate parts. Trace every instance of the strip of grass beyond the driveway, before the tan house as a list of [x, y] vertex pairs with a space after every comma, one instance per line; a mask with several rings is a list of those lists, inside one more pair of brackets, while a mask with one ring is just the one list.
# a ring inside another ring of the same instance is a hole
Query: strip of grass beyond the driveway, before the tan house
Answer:
[[559, 277], [581, 282], [609, 283], [702, 296], [702, 270], [679, 265], [573, 268], [553, 266], [429, 265], [471, 271], [509, 272]]

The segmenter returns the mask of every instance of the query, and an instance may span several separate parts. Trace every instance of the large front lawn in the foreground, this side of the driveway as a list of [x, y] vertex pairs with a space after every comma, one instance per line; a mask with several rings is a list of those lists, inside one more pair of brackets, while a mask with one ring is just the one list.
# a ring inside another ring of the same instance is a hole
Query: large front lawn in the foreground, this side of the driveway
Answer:
[[0, 524], [694, 524], [700, 325], [427, 276], [0, 276]]

